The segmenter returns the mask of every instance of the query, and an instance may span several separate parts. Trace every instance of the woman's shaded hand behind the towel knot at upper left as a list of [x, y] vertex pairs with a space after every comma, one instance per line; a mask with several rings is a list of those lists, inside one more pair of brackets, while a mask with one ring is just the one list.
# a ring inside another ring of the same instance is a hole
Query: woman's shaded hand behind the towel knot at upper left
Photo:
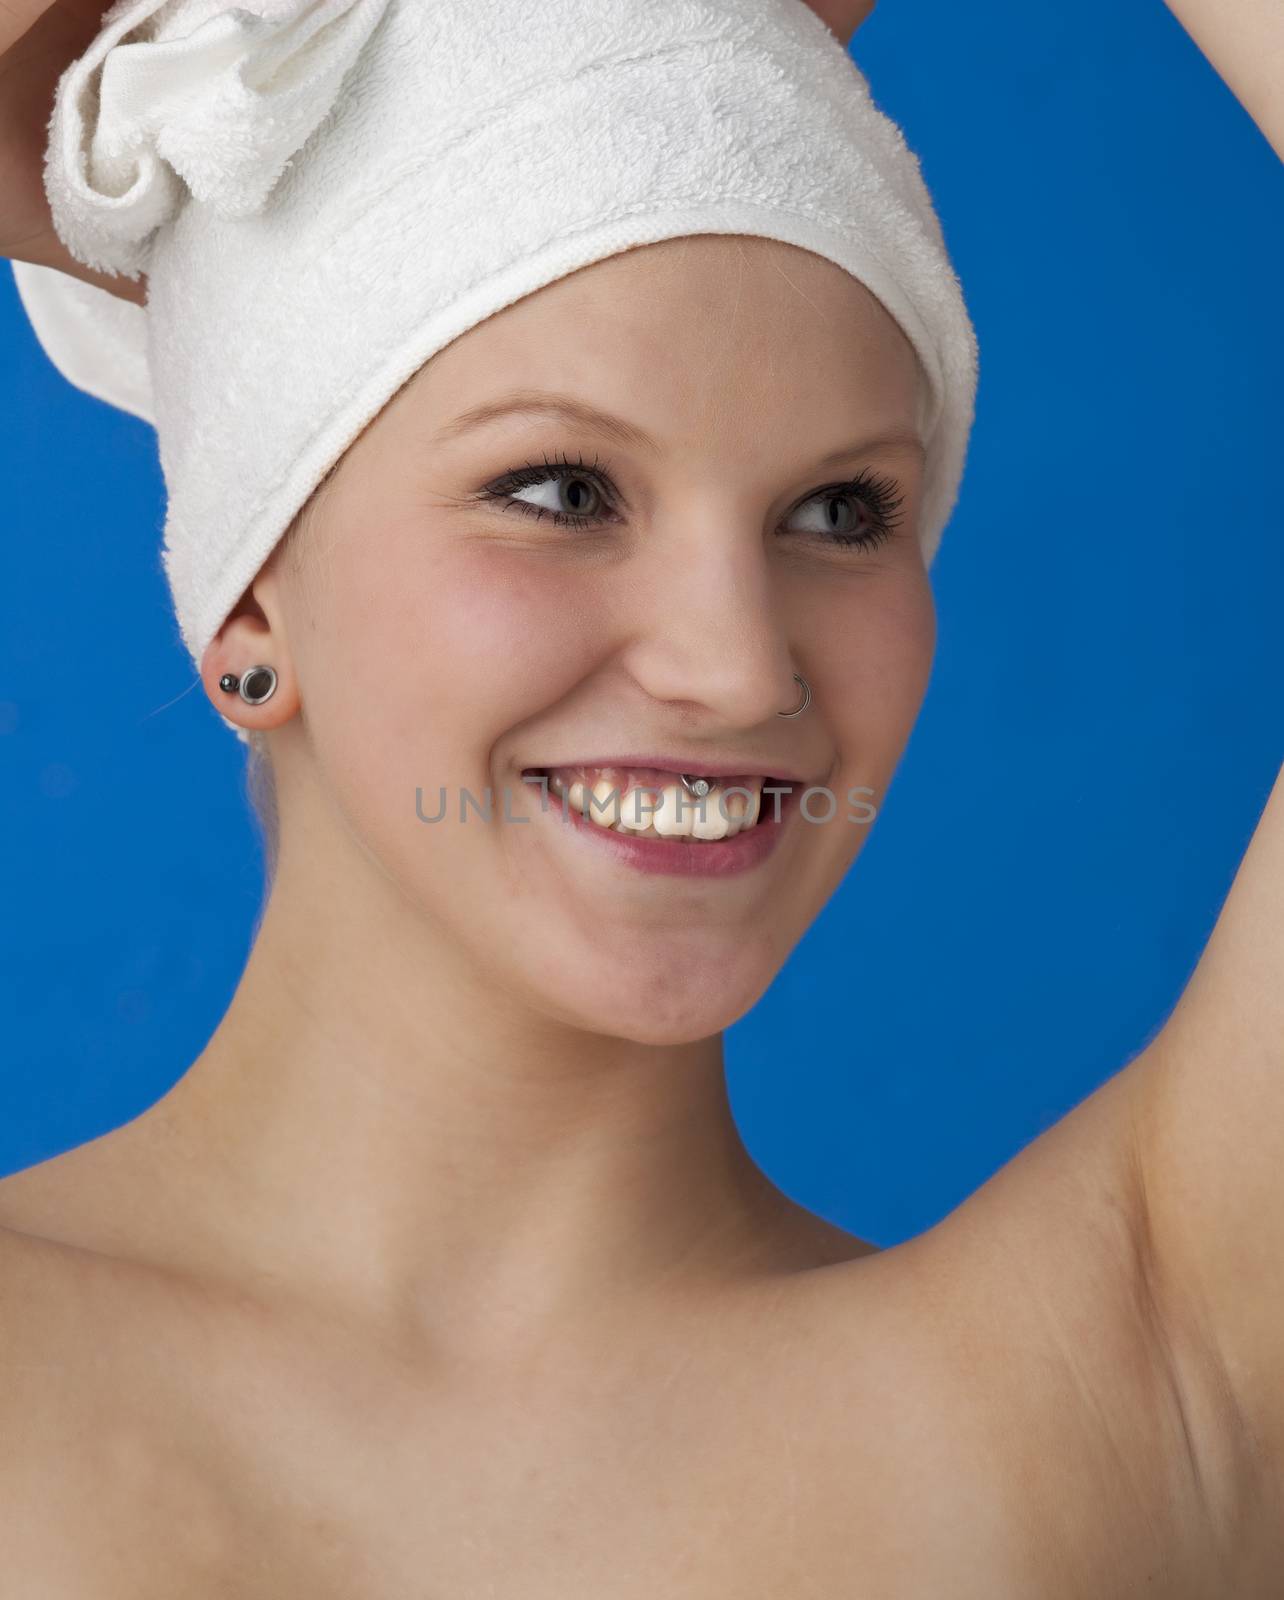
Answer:
[[0, 0], [0, 256], [58, 267], [141, 306], [146, 280], [94, 272], [70, 256], [45, 197], [53, 94], [106, 10], [104, 0]]

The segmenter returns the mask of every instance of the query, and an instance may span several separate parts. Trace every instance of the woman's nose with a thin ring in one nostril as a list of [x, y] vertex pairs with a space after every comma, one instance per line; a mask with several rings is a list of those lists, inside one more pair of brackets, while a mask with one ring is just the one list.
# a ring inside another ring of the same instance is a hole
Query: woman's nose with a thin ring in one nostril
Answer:
[[778, 574], [762, 534], [687, 523], [639, 560], [626, 666], [655, 699], [756, 726], [797, 706]]

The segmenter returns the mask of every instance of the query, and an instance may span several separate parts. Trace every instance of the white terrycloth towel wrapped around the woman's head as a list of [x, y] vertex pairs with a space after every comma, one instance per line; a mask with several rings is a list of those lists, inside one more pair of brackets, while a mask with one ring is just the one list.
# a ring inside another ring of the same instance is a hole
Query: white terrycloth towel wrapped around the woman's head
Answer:
[[810, 250], [900, 323], [930, 386], [935, 557], [975, 334], [917, 157], [802, 0], [118, 0], [50, 133], [59, 237], [146, 272], [147, 309], [40, 267], [16, 267], [19, 290], [72, 382], [157, 427], [165, 574], [197, 664], [431, 355], [685, 234]]

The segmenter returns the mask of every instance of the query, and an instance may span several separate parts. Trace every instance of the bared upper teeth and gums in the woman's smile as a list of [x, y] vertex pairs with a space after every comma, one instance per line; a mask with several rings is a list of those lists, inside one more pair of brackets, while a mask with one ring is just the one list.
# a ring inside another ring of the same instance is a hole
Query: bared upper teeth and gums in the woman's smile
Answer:
[[607, 832], [696, 846], [772, 826], [796, 787], [783, 778], [746, 773], [704, 779], [708, 792], [696, 795], [680, 773], [658, 768], [528, 766], [522, 776], [543, 782], [564, 808]]

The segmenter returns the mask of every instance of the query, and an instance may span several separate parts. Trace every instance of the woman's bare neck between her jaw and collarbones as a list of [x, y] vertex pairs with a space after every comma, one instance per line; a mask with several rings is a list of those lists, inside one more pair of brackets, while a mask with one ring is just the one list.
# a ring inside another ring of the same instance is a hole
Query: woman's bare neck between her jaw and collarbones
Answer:
[[568, 1027], [496, 994], [383, 875], [336, 893], [288, 854], [157, 1114], [184, 1259], [474, 1352], [778, 1267], [826, 1229], [744, 1149], [720, 1035]]

